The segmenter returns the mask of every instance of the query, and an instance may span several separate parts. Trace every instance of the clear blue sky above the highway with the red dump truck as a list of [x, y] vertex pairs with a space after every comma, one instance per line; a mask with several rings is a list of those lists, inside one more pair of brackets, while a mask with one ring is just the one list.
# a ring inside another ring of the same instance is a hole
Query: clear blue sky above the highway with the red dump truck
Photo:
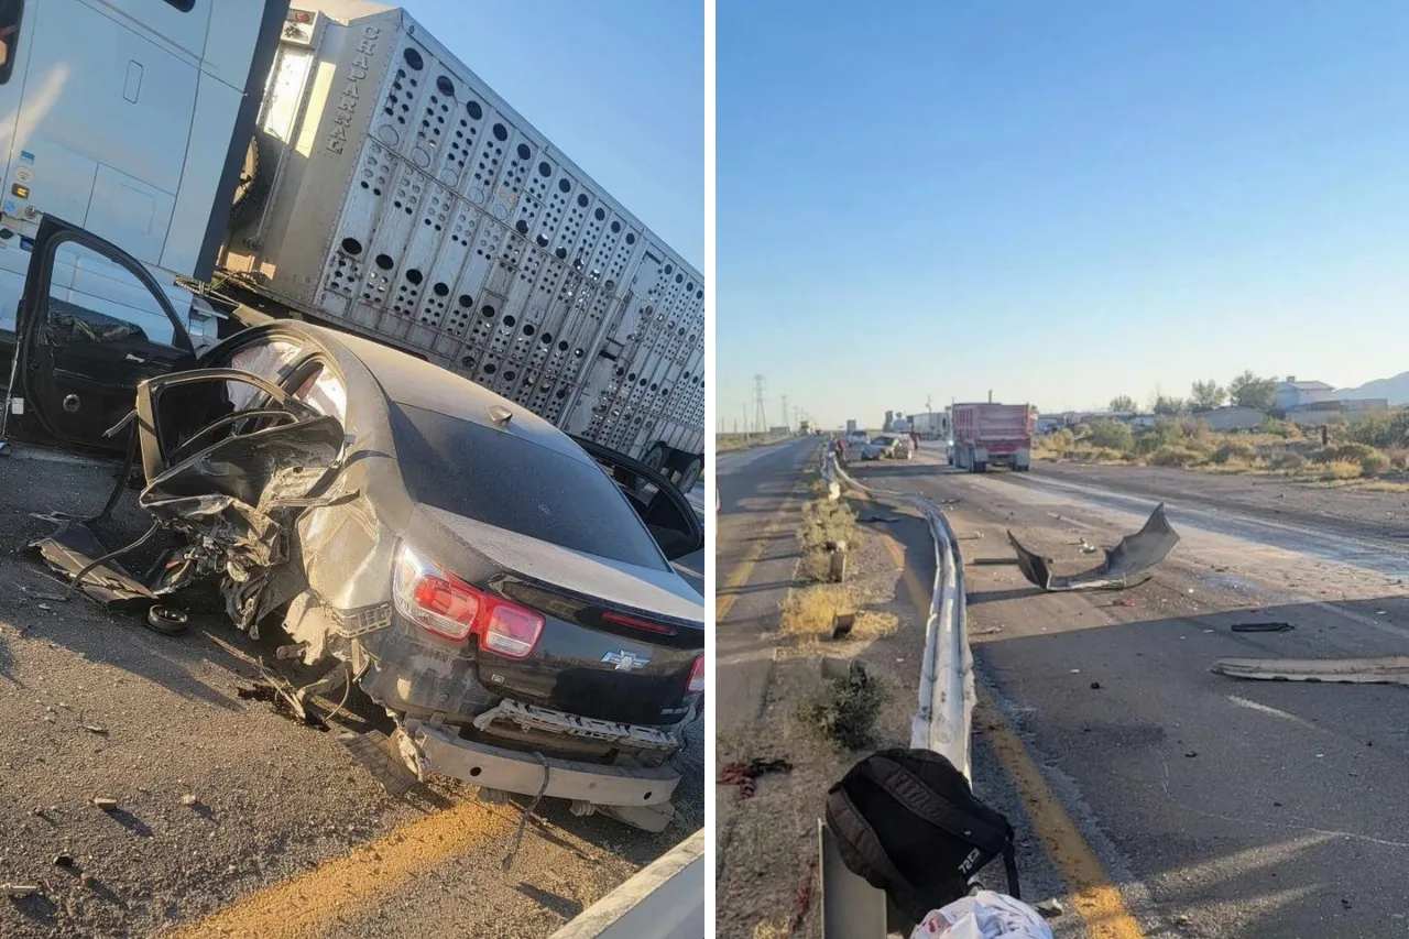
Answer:
[[720, 0], [714, 381], [827, 426], [1409, 369], [1409, 3]]

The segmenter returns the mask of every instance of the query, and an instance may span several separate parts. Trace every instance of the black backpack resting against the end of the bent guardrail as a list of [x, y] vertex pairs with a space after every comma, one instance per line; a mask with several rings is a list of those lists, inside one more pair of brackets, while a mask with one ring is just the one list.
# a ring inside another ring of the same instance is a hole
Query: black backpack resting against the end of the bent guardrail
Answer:
[[919, 922], [968, 895], [999, 854], [1017, 891], [1013, 826], [974, 798], [964, 774], [931, 750], [872, 753], [827, 792], [827, 826], [851, 873]]

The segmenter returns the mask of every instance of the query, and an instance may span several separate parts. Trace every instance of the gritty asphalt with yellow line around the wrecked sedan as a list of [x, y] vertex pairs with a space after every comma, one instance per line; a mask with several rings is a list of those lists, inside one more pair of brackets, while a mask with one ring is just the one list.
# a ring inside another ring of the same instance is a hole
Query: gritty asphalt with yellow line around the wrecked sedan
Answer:
[[[537, 939], [703, 823], [699, 722], [664, 833], [545, 799], [504, 870], [517, 805], [448, 780], [390, 798], [337, 730], [244, 698], [272, 637], [249, 642], [214, 606], [166, 637], [56, 599], [13, 550], [52, 530], [32, 513], [92, 513], [111, 478], [0, 458], [0, 884], [39, 888], [0, 895], [0, 936]], [[128, 532], [144, 527], [134, 502]], [[699, 584], [702, 554], [692, 564]], [[379, 720], [356, 698], [337, 718]]]

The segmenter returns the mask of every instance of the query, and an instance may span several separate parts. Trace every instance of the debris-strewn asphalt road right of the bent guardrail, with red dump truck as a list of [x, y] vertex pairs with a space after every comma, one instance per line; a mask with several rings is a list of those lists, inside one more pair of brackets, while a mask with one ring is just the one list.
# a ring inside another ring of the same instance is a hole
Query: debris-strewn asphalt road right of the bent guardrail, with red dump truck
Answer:
[[[927, 444], [852, 470], [950, 501], [986, 702], [975, 732], [1007, 782], [976, 767], [976, 788], [1019, 794], [1029, 852], [1062, 881], [1055, 922], [1122, 939], [1409, 935], [1409, 689], [1209, 670], [1409, 653], [1403, 496], [943, 462]], [[1113, 546], [1160, 499], [1182, 540], [1144, 585], [1041, 594], [1012, 564], [1006, 530], [1058, 572], [1096, 567], [1084, 544]]]

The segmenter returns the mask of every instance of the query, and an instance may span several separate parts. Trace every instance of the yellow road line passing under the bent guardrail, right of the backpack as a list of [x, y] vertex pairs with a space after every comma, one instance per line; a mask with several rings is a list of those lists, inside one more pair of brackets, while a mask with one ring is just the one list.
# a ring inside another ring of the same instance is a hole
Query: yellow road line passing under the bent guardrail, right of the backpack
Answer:
[[[890, 557], [902, 568], [902, 579], [910, 603], [921, 615], [930, 609], [930, 591], [905, 563], [905, 550], [886, 539]], [[1012, 780], [1023, 799], [1033, 832], [1041, 840], [1057, 873], [1067, 881], [1072, 908], [1086, 923], [1089, 939], [1144, 939], [1144, 931], [1130, 915], [1120, 891], [1110, 883], [1105, 864], [1096, 857], [1086, 839], [1072, 821], [1057, 795], [1047, 785], [1041, 770], [1029, 756], [1027, 747], [1007, 723], [1003, 713], [993, 705], [988, 694], [979, 688], [975, 722], [983, 728], [989, 746], [998, 754], [999, 763]]]

